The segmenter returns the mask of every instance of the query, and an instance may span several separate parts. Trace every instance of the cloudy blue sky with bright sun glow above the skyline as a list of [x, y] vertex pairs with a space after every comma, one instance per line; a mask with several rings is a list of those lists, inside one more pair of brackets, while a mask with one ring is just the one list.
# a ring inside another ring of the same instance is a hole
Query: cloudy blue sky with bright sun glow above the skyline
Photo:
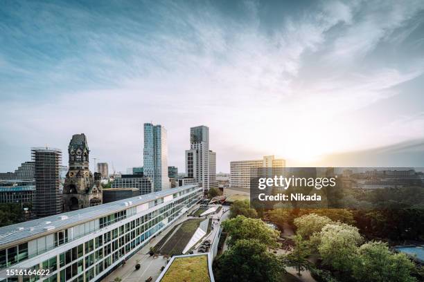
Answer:
[[[0, 171], [87, 135], [116, 171], [143, 123], [184, 171], [206, 125], [217, 171], [424, 167], [424, 1], [2, 1]], [[91, 160], [91, 163], [94, 160]]]

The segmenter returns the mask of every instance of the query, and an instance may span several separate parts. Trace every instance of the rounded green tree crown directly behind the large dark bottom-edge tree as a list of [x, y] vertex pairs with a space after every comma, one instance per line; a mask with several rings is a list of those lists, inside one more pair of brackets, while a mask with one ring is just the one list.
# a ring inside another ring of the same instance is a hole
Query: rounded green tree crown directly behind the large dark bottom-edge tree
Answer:
[[230, 236], [228, 242], [230, 246], [241, 239], [256, 239], [267, 247], [279, 245], [276, 239], [279, 238], [280, 232], [272, 229], [260, 219], [237, 216], [225, 220], [222, 225], [225, 232], [228, 232]]

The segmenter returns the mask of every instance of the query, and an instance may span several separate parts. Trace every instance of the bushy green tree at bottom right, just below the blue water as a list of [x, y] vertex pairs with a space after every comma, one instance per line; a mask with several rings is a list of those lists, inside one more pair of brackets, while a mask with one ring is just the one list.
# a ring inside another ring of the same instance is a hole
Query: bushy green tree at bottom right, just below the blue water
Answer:
[[357, 281], [413, 282], [414, 263], [405, 254], [390, 252], [386, 243], [369, 242], [360, 246], [353, 264], [353, 277]]

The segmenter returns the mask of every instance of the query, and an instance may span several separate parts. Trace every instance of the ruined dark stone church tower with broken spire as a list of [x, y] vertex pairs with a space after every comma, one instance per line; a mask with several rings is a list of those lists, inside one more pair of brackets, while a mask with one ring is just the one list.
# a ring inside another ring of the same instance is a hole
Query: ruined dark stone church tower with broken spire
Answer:
[[102, 203], [101, 174], [89, 171], [89, 147], [85, 134], [69, 142], [69, 171], [63, 186], [63, 211], [69, 212]]

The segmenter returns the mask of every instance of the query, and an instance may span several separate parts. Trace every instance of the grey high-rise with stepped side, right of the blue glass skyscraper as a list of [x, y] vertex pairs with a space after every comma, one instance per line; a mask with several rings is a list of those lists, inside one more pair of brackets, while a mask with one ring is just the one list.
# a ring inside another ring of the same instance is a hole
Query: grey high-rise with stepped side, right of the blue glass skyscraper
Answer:
[[190, 129], [190, 150], [186, 150], [186, 177], [202, 183], [205, 194], [209, 191], [209, 128]]

